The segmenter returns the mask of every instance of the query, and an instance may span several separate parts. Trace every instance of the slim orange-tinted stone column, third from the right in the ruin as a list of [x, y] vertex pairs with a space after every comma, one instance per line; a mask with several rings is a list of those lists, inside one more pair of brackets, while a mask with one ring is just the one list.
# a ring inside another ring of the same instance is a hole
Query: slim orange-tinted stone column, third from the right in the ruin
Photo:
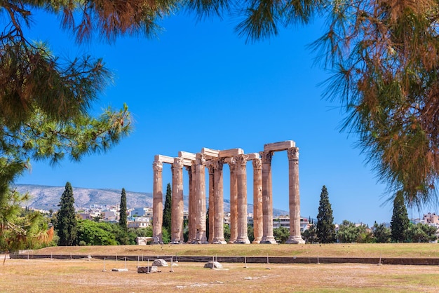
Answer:
[[262, 161], [253, 159], [253, 243], [262, 240]]

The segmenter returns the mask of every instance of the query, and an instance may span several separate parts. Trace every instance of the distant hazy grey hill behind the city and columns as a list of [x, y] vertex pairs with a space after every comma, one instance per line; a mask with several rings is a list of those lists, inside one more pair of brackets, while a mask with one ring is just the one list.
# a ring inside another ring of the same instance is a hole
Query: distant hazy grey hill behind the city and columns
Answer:
[[[30, 199], [24, 205], [41, 210], [58, 210], [58, 203], [65, 186], [43, 186], [31, 184], [16, 184], [20, 193], [28, 192]], [[118, 189], [86, 189], [73, 187], [75, 207], [90, 207], [90, 205], [117, 205], [121, 203], [121, 190]], [[184, 196], [184, 210], [188, 210], [188, 197]], [[128, 208], [152, 207], [152, 193], [126, 191]], [[224, 200], [224, 211], [230, 211], [230, 201]], [[253, 205], [248, 205], [248, 212], [253, 212]], [[285, 210], [273, 209], [273, 216], [288, 214]]]

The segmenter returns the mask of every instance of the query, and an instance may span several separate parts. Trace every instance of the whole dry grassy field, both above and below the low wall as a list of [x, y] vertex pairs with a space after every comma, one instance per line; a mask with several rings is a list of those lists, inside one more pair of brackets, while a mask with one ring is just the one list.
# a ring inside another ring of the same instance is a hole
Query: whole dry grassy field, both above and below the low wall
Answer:
[[[32, 252], [31, 252], [32, 253]], [[84, 254], [90, 259], [6, 259], [0, 292], [437, 292], [438, 266], [377, 264], [241, 264], [222, 269], [180, 262], [160, 273], [137, 273], [151, 261], [94, 255], [247, 255], [439, 257], [438, 244], [389, 245], [147, 245], [50, 247], [34, 254]], [[128, 271], [112, 271], [127, 268]]]

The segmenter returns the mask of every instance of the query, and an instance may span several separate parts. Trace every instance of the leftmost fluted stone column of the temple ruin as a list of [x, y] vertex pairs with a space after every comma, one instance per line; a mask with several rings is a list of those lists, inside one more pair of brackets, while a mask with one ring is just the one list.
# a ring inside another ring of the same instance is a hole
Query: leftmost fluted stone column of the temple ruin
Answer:
[[154, 161], [154, 163], [152, 163], [152, 170], [154, 171], [152, 237], [154, 238], [154, 244], [161, 244], [163, 243], [163, 237], [161, 235], [161, 227], [163, 224], [163, 163]]

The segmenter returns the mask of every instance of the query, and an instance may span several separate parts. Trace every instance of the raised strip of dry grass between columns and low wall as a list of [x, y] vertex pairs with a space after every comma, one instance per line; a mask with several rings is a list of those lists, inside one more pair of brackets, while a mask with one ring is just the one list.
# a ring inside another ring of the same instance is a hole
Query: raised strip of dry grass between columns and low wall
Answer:
[[312, 245], [125, 245], [48, 247], [34, 254], [271, 256], [271, 257], [421, 257], [439, 258], [438, 243]]

